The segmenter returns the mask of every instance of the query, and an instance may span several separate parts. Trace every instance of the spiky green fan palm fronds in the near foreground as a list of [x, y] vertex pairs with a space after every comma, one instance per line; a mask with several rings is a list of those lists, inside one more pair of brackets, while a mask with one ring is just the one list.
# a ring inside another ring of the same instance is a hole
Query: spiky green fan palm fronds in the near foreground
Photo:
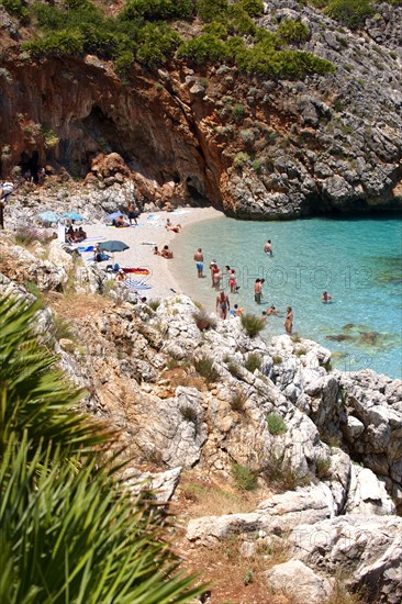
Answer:
[[79, 412], [35, 310], [0, 299], [0, 602], [190, 601], [167, 526], [119, 482], [113, 435]]

